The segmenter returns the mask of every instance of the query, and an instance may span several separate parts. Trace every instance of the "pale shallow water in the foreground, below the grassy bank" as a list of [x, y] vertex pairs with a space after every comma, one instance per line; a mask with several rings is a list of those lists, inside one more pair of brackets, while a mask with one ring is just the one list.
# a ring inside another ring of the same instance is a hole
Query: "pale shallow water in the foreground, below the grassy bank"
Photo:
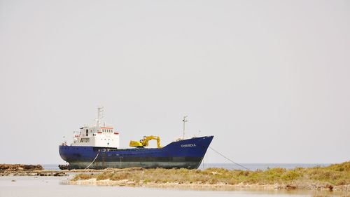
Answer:
[[[350, 193], [321, 191], [206, 191], [191, 189], [157, 189], [127, 186], [78, 186], [65, 184], [71, 177], [0, 177], [0, 197], [19, 196], [167, 196], [167, 197], [209, 197], [209, 196], [349, 196]], [[12, 182], [15, 180], [15, 182]]]

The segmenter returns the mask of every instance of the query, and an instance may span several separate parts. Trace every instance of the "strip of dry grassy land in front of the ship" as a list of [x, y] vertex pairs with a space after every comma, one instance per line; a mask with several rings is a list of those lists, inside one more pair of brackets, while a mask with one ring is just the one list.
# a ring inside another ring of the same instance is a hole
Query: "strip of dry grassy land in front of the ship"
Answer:
[[350, 184], [350, 161], [328, 167], [271, 168], [267, 170], [206, 170], [187, 169], [143, 169], [136, 171], [108, 171], [100, 174], [78, 174], [72, 179], [132, 180], [135, 184], [179, 183], [179, 184], [283, 184], [285, 188], [297, 189], [311, 185], [328, 188]]

